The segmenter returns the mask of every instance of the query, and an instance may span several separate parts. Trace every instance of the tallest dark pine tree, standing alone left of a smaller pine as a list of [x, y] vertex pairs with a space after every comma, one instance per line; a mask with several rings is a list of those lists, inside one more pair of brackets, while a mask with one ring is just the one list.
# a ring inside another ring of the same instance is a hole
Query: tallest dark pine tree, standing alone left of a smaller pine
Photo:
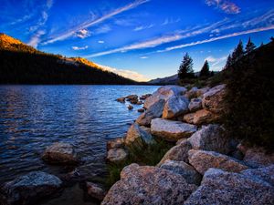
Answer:
[[187, 53], [184, 55], [184, 59], [179, 67], [178, 77], [180, 80], [194, 77], [193, 60]]

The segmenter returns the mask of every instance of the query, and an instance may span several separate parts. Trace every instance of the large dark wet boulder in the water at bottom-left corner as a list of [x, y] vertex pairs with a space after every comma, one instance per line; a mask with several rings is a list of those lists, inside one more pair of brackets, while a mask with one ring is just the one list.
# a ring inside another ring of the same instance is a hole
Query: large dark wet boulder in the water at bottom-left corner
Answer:
[[0, 204], [37, 204], [61, 190], [62, 181], [42, 171], [32, 171], [6, 182], [0, 188]]

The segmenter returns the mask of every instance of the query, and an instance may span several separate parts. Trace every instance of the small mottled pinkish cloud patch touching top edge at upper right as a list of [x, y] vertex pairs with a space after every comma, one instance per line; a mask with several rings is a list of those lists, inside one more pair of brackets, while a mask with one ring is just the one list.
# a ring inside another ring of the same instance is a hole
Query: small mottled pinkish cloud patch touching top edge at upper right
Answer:
[[217, 9], [225, 12], [226, 14], [240, 13], [240, 8], [228, 0], [205, 0], [205, 4], [215, 6]]

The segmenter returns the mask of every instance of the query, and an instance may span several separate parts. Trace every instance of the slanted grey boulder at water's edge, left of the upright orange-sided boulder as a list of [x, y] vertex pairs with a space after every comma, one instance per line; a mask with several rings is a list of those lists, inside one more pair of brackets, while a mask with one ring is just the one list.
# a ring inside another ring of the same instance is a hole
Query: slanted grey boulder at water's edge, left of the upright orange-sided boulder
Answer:
[[150, 126], [153, 118], [162, 117], [164, 103], [164, 99], [155, 101], [150, 108], [136, 119], [136, 123], [141, 126]]

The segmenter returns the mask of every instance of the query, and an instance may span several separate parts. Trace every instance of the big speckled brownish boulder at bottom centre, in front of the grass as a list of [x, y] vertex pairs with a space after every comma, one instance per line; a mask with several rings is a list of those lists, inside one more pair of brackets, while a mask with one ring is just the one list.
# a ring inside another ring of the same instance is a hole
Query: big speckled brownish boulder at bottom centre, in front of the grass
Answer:
[[131, 164], [101, 204], [183, 204], [196, 188], [169, 170]]

